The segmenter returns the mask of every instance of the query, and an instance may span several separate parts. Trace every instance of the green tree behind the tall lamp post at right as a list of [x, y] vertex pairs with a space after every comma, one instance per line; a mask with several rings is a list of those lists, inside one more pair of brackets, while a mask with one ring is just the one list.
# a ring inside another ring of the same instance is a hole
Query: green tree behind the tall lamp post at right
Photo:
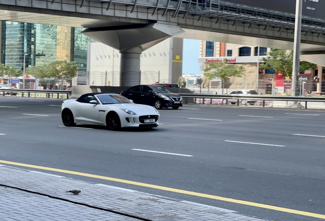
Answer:
[[[261, 59], [262, 64], [260, 64], [261, 69], [274, 69], [277, 72], [282, 73], [284, 76], [292, 76], [292, 66], [293, 66], [293, 51], [287, 51], [283, 49], [272, 49], [267, 53], [266, 57]], [[300, 61], [299, 73], [303, 73], [309, 69], [315, 69], [316, 64]]]

